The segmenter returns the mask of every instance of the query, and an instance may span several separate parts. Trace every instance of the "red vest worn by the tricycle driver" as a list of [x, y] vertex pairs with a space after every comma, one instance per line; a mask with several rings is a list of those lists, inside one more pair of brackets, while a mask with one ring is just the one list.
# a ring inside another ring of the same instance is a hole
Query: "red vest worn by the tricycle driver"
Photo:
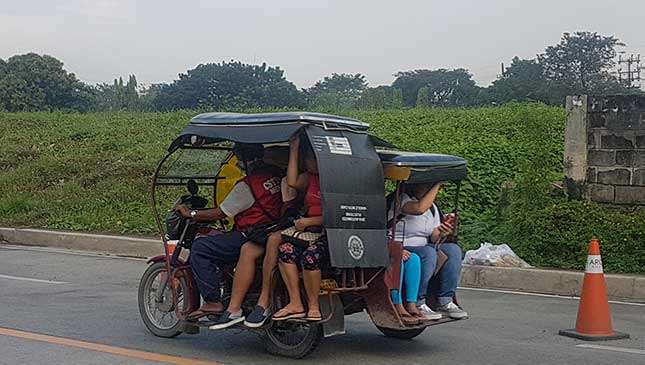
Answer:
[[235, 229], [243, 232], [256, 224], [278, 220], [282, 208], [280, 174], [270, 169], [261, 170], [244, 177], [242, 181], [251, 189], [255, 203], [235, 216]]

